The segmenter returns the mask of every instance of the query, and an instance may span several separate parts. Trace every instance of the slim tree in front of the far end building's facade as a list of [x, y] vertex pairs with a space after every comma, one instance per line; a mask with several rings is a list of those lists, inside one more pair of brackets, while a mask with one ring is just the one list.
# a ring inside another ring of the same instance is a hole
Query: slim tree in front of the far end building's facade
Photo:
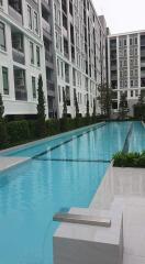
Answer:
[[126, 113], [129, 112], [127, 97], [126, 92], [121, 92], [120, 106], [119, 106], [119, 118], [125, 119]]

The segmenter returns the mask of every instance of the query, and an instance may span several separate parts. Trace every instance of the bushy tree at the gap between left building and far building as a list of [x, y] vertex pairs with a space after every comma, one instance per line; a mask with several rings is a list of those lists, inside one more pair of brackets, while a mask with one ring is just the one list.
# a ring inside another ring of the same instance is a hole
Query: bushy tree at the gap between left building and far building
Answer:
[[110, 118], [113, 98], [112, 88], [109, 87], [108, 84], [101, 84], [98, 87], [98, 91], [99, 91], [98, 101], [101, 108], [101, 114], [104, 114], [108, 118]]

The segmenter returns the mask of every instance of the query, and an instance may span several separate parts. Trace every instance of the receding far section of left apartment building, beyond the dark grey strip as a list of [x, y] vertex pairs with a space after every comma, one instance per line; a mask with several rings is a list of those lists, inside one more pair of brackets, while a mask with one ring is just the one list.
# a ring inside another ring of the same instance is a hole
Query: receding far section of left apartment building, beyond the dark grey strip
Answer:
[[63, 114], [63, 89], [67, 98], [68, 116], [75, 117], [75, 92], [79, 112], [90, 114], [93, 102], [100, 111], [98, 85], [105, 81], [105, 37], [103, 16], [98, 16], [91, 0], [53, 0], [53, 31], [55, 50], [55, 106]]

